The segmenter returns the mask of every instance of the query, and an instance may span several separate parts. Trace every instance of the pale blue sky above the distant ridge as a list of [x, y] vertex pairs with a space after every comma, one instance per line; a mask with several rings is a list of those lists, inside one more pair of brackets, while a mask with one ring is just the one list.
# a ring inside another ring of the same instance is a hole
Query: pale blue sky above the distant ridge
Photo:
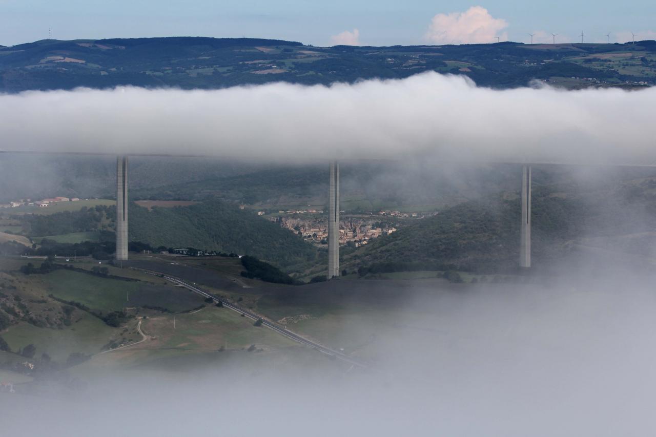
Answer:
[[[475, 6], [487, 10], [487, 18], [479, 14], [484, 26], [485, 20], [495, 23], [487, 31], [470, 33], [472, 22], [459, 19], [466, 16], [434, 22], [438, 14]], [[0, 45], [44, 39], [49, 26], [56, 39], [246, 35], [313, 45], [409, 45], [493, 42], [497, 36], [528, 42], [529, 32], [537, 33], [535, 42], [551, 41], [550, 33], [558, 33], [556, 42], [569, 42], [580, 41], [583, 30], [586, 41], [605, 41], [611, 32], [623, 42], [631, 31], [656, 39], [656, 1], [0, 0]], [[344, 31], [350, 33], [335, 39]]]

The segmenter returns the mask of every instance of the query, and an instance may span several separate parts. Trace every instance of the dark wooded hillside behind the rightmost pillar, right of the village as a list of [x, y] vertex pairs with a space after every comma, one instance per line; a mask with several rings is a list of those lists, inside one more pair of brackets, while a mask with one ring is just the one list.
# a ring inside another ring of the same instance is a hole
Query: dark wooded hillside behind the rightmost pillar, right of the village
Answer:
[[[533, 191], [532, 256], [558, 262], [575, 247], [653, 257], [656, 254], [656, 182], [625, 180], [614, 186], [542, 185]], [[520, 201], [506, 194], [468, 201], [373, 240], [343, 257], [348, 270], [386, 263], [403, 270], [419, 263], [436, 270], [500, 272], [518, 265]], [[396, 266], [395, 266], [396, 264]]]

